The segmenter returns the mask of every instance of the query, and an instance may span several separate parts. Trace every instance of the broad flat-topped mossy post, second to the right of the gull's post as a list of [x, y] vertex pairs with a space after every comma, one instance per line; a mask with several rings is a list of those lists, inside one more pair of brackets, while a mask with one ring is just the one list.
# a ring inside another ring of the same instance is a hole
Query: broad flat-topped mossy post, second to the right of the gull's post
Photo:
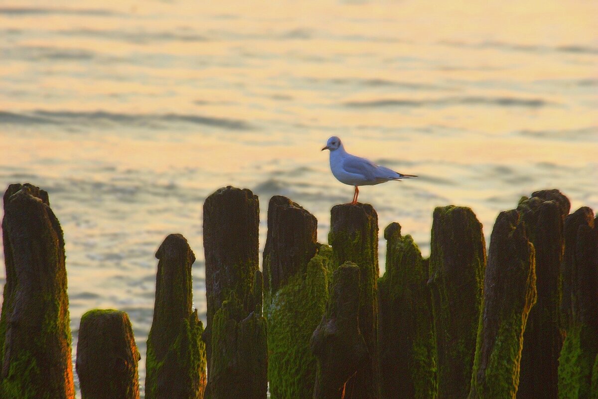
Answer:
[[428, 280], [436, 336], [438, 399], [469, 394], [481, 310], [486, 244], [470, 208], [437, 207]]

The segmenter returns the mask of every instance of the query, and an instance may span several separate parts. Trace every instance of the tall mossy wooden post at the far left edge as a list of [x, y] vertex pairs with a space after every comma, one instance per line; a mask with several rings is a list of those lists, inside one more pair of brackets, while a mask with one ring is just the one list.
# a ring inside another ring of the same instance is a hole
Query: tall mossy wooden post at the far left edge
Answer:
[[8, 186], [2, 240], [0, 397], [74, 398], [65, 241], [47, 192]]

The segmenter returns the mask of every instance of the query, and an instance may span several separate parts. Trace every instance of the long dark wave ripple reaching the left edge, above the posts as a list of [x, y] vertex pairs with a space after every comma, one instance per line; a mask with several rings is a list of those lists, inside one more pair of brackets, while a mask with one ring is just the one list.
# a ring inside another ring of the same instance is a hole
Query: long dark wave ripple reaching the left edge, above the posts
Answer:
[[215, 118], [213, 116], [181, 113], [135, 114], [107, 111], [44, 111], [30, 113], [0, 112], [0, 124], [98, 124], [113, 123], [151, 127], [163, 122], [209, 125], [228, 130], [249, 130], [251, 125], [240, 119]]

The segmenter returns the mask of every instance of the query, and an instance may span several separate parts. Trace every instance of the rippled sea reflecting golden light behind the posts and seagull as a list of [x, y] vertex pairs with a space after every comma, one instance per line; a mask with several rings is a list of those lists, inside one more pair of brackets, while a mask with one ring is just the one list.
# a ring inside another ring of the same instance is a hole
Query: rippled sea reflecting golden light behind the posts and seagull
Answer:
[[129, 312], [143, 387], [171, 232], [196, 253], [205, 320], [202, 205], [221, 186], [260, 196], [262, 247], [274, 194], [327, 242], [330, 208], [353, 194], [320, 151], [332, 135], [420, 176], [359, 199], [381, 237], [397, 221], [424, 254], [438, 205], [472, 207], [487, 240], [536, 189], [597, 210], [598, 2], [463, 4], [0, 0], [0, 188], [50, 194], [74, 348], [85, 311]]

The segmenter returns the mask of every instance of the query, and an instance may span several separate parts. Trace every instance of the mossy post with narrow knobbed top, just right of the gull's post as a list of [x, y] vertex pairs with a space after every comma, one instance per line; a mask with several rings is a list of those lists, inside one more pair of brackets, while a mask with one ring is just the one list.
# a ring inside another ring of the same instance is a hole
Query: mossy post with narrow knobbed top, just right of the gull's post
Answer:
[[434, 399], [436, 361], [428, 262], [401, 225], [390, 223], [386, 271], [378, 280], [378, 349], [382, 399]]

